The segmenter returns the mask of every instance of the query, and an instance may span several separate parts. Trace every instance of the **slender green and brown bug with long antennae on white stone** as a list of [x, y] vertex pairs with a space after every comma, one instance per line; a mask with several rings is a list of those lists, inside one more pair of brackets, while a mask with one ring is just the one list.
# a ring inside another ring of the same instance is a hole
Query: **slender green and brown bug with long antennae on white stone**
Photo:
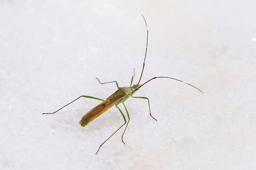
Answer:
[[[143, 19], [144, 19], [144, 22], [146, 24], [146, 28], [147, 28], [147, 23], [146, 23], [146, 20], [144, 18], [144, 16], [142, 15]], [[74, 101], [78, 100], [79, 98], [81, 97], [86, 97], [86, 98], [91, 98], [91, 99], [96, 99], [96, 100], [101, 100], [102, 102], [100, 104], [98, 104], [97, 106], [95, 106], [92, 110], [90, 110], [88, 113], [86, 113], [84, 116], [82, 116], [82, 119], [80, 120], [80, 124], [81, 126], [86, 126], [88, 125], [91, 121], [93, 121], [94, 119], [96, 119], [97, 117], [99, 117], [100, 115], [102, 115], [103, 113], [105, 113], [108, 109], [110, 109], [111, 107], [113, 106], [116, 106], [118, 108], [118, 110], [120, 111], [120, 113], [122, 114], [123, 118], [124, 118], [124, 124], [122, 126], [120, 126], [109, 138], [107, 138], [107, 140], [105, 140], [99, 147], [98, 151], [96, 152], [96, 154], [99, 152], [101, 146], [106, 142], [108, 141], [119, 129], [121, 129], [126, 123], [126, 127], [124, 129], [124, 132], [122, 134], [122, 142], [125, 144], [124, 140], [123, 140], [123, 136], [124, 136], [124, 133], [125, 133], [125, 130], [129, 124], [129, 121], [130, 121], [130, 115], [128, 113], [128, 110], [124, 104], [124, 102], [129, 98], [129, 97], [132, 97], [132, 98], [140, 98], [140, 99], [146, 99], [148, 100], [148, 108], [149, 108], [149, 114], [150, 116], [156, 120], [152, 115], [151, 115], [151, 111], [150, 111], [150, 105], [149, 105], [149, 99], [147, 97], [134, 97], [132, 96], [136, 91], [138, 91], [142, 86], [144, 86], [146, 83], [148, 83], [149, 81], [153, 80], [153, 79], [156, 79], [156, 78], [169, 78], [169, 79], [174, 79], [174, 80], [177, 80], [177, 81], [180, 81], [180, 82], [183, 82], [183, 83], [186, 83], [184, 81], [181, 81], [181, 80], [178, 80], [178, 79], [175, 79], [175, 78], [170, 78], [170, 77], [153, 77], [151, 78], [150, 80], [146, 81], [145, 83], [143, 84], [139, 84], [140, 83], [140, 80], [141, 80], [141, 77], [142, 77], [142, 74], [143, 74], [143, 70], [144, 70], [144, 67], [145, 67], [145, 60], [146, 60], [146, 54], [147, 54], [147, 42], [148, 42], [148, 28], [147, 28], [147, 41], [146, 41], [146, 52], [145, 52], [145, 57], [144, 57], [144, 62], [143, 62], [143, 67], [142, 67], [142, 71], [141, 71], [141, 75], [140, 75], [140, 79], [139, 79], [139, 82], [137, 84], [134, 84], [132, 86], [132, 82], [133, 82], [133, 78], [135, 76], [135, 72], [133, 70], [133, 76], [132, 76], [132, 80], [131, 80], [131, 84], [129, 87], [119, 87], [118, 86], [118, 83], [117, 81], [111, 81], [111, 82], [105, 82], [105, 83], [102, 83], [98, 78], [96, 78], [101, 84], [106, 84], [106, 83], [116, 83], [117, 85], [117, 91], [115, 91], [113, 94], [111, 94], [106, 100], [104, 99], [100, 99], [100, 98], [96, 98], [96, 97], [92, 97], [92, 96], [86, 96], [86, 95], [82, 95], [80, 97], [78, 97], [77, 99], [73, 100], [72, 102], [66, 104], [65, 106], [61, 107], [60, 109], [66, 107], [67, 105], [73, 103]], [[186, 83], [194, 88], [196, 88], [197, 90], [199, 90], [200, 92], [203, 93], [203, 91], [201, 91], [200, 89], [198, 89], [197, 87], [189, 84], [189, 83]], [[118, 105], [122, 103], [124, 105], [124, 108], [125, 108], [125, 111], [127, 113], [127, 116], [128, 116], [128, 122], [126, 121], [126, 118], [123, 114], [123, 112], [121, 111], [121, 109], [118, 107]], [[53, 113], [43, 113], [43, 114], [54, 114], [56, 112], [58, 112], [60, 109], [58, 109], [57, 111], [53, 112]]]

